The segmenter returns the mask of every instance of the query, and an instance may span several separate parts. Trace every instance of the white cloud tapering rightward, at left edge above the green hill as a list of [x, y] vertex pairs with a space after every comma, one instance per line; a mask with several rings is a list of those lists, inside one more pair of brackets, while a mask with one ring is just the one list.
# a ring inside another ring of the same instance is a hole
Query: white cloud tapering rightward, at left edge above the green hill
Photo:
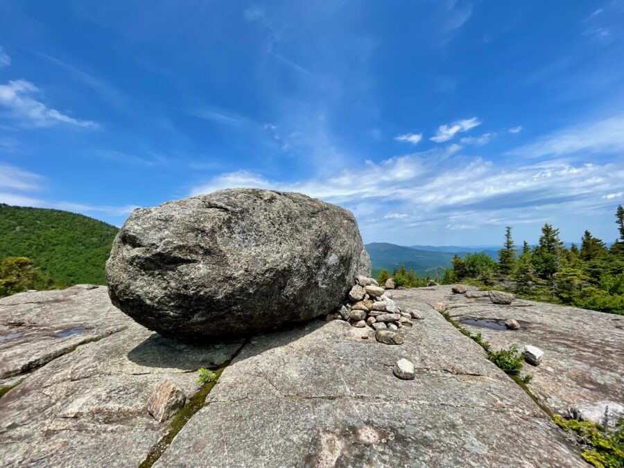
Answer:
[[29, 81], [9, 81], [6, 85], [0, 85], [0, 106], [8, 108], [17, 119], [37, 127], [49, 127], [55, 123], [97, 127], [95, 122], [74, 119], [58, 110], [46, 107], [44, 103], [33, 98], [33, 94], [38, 91], [39, 89]]

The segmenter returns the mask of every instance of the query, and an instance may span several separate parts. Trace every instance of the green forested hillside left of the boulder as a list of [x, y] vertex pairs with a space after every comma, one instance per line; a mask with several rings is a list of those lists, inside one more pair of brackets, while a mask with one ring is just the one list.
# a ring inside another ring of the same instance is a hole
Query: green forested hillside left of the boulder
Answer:
[[104, 266], [118, 230], [69, 211], [0, 204], [0, 259], [29, 257], [62, 284], [106, 284]]

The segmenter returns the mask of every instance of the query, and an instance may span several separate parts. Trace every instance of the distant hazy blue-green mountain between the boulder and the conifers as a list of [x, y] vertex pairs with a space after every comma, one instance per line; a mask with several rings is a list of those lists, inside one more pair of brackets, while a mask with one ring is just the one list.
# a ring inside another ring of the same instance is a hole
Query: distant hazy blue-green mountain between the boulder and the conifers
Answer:
[[454, 252], [433, 252], [431, 250], [417, 250], [385, 242], [373, 242], [365, 245], [373, 267], [374, 275], [383, 268], [392, 272], [392, 268], [412, 268], [417, 275], [425, 276], [427, 272], [435, 275], [435, 271], [444, 272], [444, 268], [451, 266]]

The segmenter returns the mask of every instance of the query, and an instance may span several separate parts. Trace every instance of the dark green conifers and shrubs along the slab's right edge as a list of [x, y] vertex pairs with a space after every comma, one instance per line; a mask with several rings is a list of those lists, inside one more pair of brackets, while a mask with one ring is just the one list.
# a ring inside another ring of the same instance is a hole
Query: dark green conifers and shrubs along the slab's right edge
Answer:
[[[618, 239], [610, 247], [586, 230], [580, 248], [566, 248], [559, 229], [546, 223], [541, 228], [539, 243], [525, 241], [517, 248], [512, 228], [505, 228], [505, 241], [499, 250], [499, 261], [484, 252], [455, 255], [442, 284], [466, 283], [486, 289], [510, 291], [519, 297], [555, 302], [594, 311], [624, 314], [624, 208], [616, 211]], [[390, 277], [382, 270], [378, 281]], [[411, 268], [395, 268], [397, 286], [426, 286], [431, 278], [421, 279]]]

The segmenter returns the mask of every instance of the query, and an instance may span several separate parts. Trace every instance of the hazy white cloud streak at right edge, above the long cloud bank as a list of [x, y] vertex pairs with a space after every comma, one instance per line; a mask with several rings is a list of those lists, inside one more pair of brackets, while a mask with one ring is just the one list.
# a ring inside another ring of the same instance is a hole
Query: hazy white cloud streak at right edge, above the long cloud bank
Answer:
[[624, 116], [575, 125], [511, 150], [523, 157], [562, 156], [579, 153], [619, 153], [624, 151]]

